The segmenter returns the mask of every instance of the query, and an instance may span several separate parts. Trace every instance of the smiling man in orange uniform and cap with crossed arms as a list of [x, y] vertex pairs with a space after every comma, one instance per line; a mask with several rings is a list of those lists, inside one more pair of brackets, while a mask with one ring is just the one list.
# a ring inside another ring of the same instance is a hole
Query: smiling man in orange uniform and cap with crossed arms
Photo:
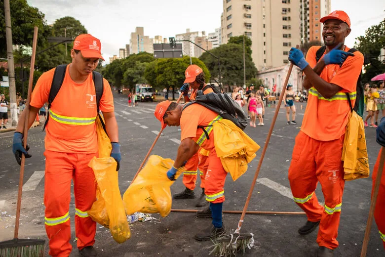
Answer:
[[[291, 48], [289, 60], [305, 74], [308, 89], [301, 131], [296, 137], [289, 168], [294, 201], [307, 214], [308, 221], [298, 232], [306, 235], [319, 225], [318, 257], [332, 257], [338, 247], [337, 235], [344, 192], [344, 168], [341, 161], [345, 128], [350, 115], [356, 86], [363, 65], [363, 55], [347, 52], [344, 45], [349, 35], [350, 19], [344, 11], [334, 11], [320, 22], [326, 51], [316, 61], [320, 46], [312, 46], [306, 60], [301, 50]], [[321, 183], [325, 206], [318, 203], [315, 188]]]

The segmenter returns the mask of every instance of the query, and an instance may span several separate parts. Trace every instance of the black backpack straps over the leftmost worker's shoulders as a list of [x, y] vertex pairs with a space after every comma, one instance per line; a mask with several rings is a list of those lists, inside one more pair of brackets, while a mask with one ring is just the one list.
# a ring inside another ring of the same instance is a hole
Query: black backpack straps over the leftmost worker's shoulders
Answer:
[[[59, 92], [59, 90], [63, 84], [64, 77], [66, 76], [66, 70], [67, 70], [66, 64], [65, 65], [59, 65], [55, 69], [55, 72], [53, 74], [51, 89], [49, 90], [48, 110], [49, 110], [49, 108], [51, 108], [51, 104], [52, 104], [53, 100], [55, 99], [57, 93]], [[100, 114], [99, 114], [99, 102], [100, 102], [100, 99], [102, 98], [102, 95], [103, 95], [103, 76], [99, 72], [92, 71], [92, 80], [94, 81], [94, 84], [95, 84], [96, 109], [97, 109], [100, 121], [102, 123], [103, 129], [107, 133], [106, 126], [103, 123], [103, 119], [100, 117]], [[49, 119], [49, 112], [47, 112], [47, 119], [45, 120], [43, 131], [48, 124], [48, 119]]]

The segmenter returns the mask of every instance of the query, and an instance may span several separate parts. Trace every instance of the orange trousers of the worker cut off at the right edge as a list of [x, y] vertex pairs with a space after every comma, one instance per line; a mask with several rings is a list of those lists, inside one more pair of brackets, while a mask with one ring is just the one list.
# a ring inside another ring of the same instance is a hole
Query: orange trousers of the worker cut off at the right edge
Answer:
[[[372, 196], [373, 196], [374, 186], [376, 184], [377, 174], [379, 172], [378, 169], [380, 166], [381, 151], [382, 151], [382, 149], [380, 150], [380, 153], [377, 157], [377, 162], [376, 162], [376, 164], [374, 166], [374, 170], [373, 170]], [[385, 218], [384, 218], [384, 214], [385, 214], [385, 166], [384, 166], [384, 169], [382, 172], [383, 172], [383, 175], [381, 177], [380, 189], [378, 191], [376, 209], [374, 210], [374, 218], [376, 220], [376, 224], [377, 224], [378, 230], [380, 232], [380, 238], [383, 241], [384, 249], [385, 249]]]

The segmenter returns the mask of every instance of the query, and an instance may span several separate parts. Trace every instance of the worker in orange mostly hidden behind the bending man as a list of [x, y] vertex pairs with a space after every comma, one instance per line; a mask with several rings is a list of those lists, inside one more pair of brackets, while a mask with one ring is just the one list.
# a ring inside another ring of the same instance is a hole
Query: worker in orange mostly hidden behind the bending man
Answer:
[[[214, 90], [207, 86], [205, 81], [205, 75], [203, 70], [193, 64], [190, 65], [185, 72], [186, 80], [181, 87], [181, 92], [183, 92], [183, 96], [185, 98], [185, 102], [190, 102], [195, 100], [195, 96], [198, 90], [203, 90], [203, 94], [208, 94], [214, 92]], [[189, 87], [192, 88], [192, 93], [189, 97]], [[202, 194], [199, 196], [195, 206], [203, 207], [207, 204], [205, 200], [204, 194], [204, 177], [206, 175], [206, 171], [208, 168], [208, 155], [209, 152], [205, 149], [199, 148], [198, 152], [192, 156], [192, 158], [186, 163], [185, 168], [186, 171], [183, 173], [183, 184], [186, 186], [186, 189], [180, 193], [176, 193], [173, 195], [174, 199], [192, 199], [195, 198], [194, 188], [195, 182], [198, 174], [200, 175], [200, 187], [202, 188]], [[197, 217], [211, 217], [210, 209], [205, 208], [201, 211], [198, 211], [196, 214]]]

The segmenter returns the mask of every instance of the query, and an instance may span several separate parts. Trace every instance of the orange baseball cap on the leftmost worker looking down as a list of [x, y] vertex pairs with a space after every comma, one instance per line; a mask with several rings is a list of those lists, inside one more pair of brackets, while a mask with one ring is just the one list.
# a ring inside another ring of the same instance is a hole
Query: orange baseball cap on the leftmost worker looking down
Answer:
[[81, 55], [85, 58], [99, 58], [104, 61], [100, 52], [101, 48], [100, 40], [90, 34], [81, 34], [74, 41], [74, 50], [80, 50]]

